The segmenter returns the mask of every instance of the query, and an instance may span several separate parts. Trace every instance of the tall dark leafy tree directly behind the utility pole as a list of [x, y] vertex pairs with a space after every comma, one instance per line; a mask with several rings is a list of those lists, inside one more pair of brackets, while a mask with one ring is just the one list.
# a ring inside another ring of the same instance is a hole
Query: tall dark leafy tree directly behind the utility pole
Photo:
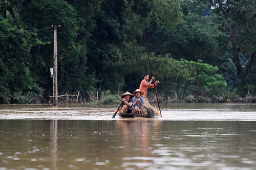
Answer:
[[[31, 30], [38, 30], [37, 37], [44, 44], [31, 49], [33, 58], [30, 69], [40, 87], [44, 87], [45, 99], [52, 92], [50, 68], [53, 65], [53, 29], [58, 28], [58, 90], [59, 94], [77, 93], [85, 79], [86, 58], [81, 45], [76, 42], [79, 26], [76, 10], [65, 1], [24, 1], [22, 18]], [[41, 31], [40, 31], [41, 30]], [[49, 100], [49, 98], [48, 98]]]

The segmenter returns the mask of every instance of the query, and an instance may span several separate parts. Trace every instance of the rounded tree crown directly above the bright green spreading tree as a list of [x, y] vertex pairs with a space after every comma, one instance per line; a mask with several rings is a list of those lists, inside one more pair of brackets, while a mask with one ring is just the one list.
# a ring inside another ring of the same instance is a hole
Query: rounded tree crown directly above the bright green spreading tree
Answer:
[[182, 1], [181, 21], [174, 27], [156, 25], [153, 35], [148, 36], [148, 48], [155, 55], [171, 54], [174, 59], [198, 61], [216, 65], [222, 55], [221, 44], [224, 34], [219, 31], [220, 25], [215, 18], [209, 17], [206, 5], [197, 1]]

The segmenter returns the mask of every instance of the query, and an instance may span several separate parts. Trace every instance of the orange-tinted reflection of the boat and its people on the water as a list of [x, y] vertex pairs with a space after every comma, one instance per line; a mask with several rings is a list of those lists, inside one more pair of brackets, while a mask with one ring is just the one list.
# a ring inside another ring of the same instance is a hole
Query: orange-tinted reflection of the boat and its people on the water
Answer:
[[[122, 168], [146, 168], [152, 166], [154, 158], [151, 156], [155, 132], [161, 127], [161, 121], [151, 120], [122, 120], [118, 121], [118, 128], [122, 129], [122, 140], [125, 151]], [[152, 135], [153, 134], [153, 135]], [[131, 152], [131, 149], [132, 152]], [[129, 155], [134, 155], [129, 157]]]

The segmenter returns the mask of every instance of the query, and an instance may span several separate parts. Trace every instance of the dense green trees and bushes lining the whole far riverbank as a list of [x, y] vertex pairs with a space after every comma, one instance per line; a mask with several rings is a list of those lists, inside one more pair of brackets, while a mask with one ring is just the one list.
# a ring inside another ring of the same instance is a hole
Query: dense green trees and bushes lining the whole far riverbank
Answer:
[[[0, 0], [0, 104], [120, 102], [151, 75], [160, 102], [256, 100], [254, 1]], [[152, 76], [152, 75], [151, 75]], [[155, 102], [154, 89], [148, 92]]]

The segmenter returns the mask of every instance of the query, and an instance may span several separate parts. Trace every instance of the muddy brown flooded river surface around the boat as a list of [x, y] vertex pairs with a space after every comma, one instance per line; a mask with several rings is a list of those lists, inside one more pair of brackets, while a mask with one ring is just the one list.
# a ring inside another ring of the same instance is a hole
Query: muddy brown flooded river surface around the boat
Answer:
[[0, 170], [256, 169], [254, 104], [162, 104], [154, 119], [117, 107], [0, 105]]

